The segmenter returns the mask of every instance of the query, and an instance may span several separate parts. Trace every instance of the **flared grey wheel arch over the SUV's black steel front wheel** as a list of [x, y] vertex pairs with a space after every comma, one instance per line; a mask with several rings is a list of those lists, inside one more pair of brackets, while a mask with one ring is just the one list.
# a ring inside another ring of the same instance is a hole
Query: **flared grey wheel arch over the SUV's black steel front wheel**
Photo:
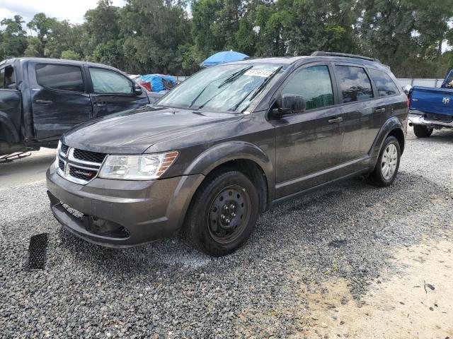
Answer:
[[264, 172], [268, 194], [273, 196], [274, 168], [268, 155], [258, 146], [245, 141], [231, 141], [214, 145], [198, 155], [185, 169], [183, 175], [209, 174], [214, 168], [231, 160], [251, 160]]

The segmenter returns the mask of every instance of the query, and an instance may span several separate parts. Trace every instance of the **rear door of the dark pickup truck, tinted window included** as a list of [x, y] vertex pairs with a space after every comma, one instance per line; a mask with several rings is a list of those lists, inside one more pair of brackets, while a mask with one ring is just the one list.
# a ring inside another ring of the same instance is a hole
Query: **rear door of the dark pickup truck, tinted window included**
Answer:
[[91, 119], [90, 95], [82, 67], [30, 62], [28, 77], [35, 138], [54, 140], [65, 131]]

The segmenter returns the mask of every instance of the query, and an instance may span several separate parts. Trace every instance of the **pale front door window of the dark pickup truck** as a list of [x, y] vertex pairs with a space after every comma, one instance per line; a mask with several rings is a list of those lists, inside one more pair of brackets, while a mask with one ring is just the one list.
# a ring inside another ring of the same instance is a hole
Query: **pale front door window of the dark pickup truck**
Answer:
[[108, 69], [90, 68], [94, 93], [132, 94], [132, 82], [120, 73]]

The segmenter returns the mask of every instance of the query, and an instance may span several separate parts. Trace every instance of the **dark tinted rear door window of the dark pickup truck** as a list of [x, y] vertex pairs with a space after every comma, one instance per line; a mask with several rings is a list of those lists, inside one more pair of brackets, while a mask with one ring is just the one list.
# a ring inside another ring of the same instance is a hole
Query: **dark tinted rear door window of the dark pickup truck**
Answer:
[[45, 88], [84, 92], [84, 80], [79, 66], [38, 64], [36, 81]]

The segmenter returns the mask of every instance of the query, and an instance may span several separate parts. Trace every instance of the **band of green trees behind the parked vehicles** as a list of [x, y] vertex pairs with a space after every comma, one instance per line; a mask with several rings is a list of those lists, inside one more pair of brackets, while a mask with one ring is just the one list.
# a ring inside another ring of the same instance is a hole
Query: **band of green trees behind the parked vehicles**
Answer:
[[[188, 2], [190, 1], [190, 2]], [[445, 0], [100, 0], [85, 22], [37, 13], [23, 30], [4, 18], [6, 56], [84, 59], [129, 73], [190, 74], [214, 52], [253, 57], [316, 50], [377, 57], [396, 76], [442, 77], [453, 66], [451, 1]]]

